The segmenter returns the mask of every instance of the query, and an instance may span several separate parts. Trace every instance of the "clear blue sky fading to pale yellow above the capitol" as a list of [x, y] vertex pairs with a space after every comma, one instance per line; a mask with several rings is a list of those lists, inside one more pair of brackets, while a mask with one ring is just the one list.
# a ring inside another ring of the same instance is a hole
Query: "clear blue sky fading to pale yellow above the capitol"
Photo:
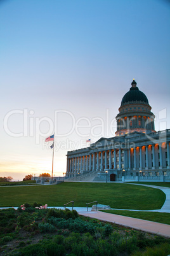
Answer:
[[[55, 120], [54, 172], [62, 175], [68, 150], [114, 136], [107, 121], [133, 78], [152, 106], [156, 130], [170, 128], [169, 27], [170, 4], [163, 0], [1, 1], [0, 176], [51, 173], [52, 152], [43, 141]], [[8, 129], [17, 134], [24, 126], [24, 136], [5, 131], [9, 111]], [[73, 118], [89, 127], [77, 128]]]

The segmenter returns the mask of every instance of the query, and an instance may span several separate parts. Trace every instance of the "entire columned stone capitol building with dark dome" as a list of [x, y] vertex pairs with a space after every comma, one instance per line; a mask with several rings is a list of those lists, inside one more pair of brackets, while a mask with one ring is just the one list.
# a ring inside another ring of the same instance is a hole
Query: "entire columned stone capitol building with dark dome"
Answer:
[[67, 152], [66, 180], [170, 181], [170, 129], [155, 131], [155, 115], [136, 85], [122, 97], [114, 137]]

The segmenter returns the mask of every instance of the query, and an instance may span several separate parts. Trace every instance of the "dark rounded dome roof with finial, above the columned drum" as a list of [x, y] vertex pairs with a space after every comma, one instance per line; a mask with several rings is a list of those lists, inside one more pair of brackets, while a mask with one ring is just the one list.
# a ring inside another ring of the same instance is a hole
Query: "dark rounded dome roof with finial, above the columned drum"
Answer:
[[127, 92], [123, 97], [121, 101], [121, 106], [124, 104], [129, 103], [143, 103], [143, 104], [149, 104], [147, 96], [141, 92], [138, 87], [136, 87], [136, 82], [133, 80], [131, 83], [132, 87], [130, 88], [129, 92]]

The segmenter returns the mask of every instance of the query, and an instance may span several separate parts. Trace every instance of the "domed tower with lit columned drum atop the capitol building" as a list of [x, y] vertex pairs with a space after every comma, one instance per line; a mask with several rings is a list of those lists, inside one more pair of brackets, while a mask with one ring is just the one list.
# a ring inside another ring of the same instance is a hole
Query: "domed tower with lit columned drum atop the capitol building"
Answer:
[[119, 114], [116, 117], [116, 136], [129, 134], [129, 132], [155, 132], [155, 115], [150, 111], [147, 96], [136, 86], [133, 79], [129, 92], [122, 97]]

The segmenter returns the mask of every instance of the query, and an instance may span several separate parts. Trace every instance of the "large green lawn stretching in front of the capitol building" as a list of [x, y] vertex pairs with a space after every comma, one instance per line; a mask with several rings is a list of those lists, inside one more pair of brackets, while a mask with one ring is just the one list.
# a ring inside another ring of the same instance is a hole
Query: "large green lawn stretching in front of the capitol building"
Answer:
[[166, 195], [159, 189], [123, 183], [65, 182], [59, 185], [0, 187], [0, 207], [42, 203], [63, 206], [74, 200], [74, 206], [98, 201], [111, 208], [155, 210], [164, 204]]

